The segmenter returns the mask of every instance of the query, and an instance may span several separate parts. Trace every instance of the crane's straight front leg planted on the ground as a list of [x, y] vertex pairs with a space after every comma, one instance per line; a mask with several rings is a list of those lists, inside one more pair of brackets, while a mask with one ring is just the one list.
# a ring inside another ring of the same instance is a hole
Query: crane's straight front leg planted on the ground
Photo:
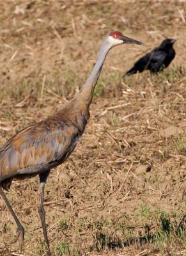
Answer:
[[49, 239], [47, 237], [47, 228], [46, 228], [46, 223], [45, 223], [45, 210], [43, 207], [43, 195], [44, 195], [44, 188], [45, 188], [45, 182], [47, 180], [47, 177], [49, 176], [50, 170], [47, 172], [40, 173], [40, 186], [41, 186], [41, 193], [40, 193], [40, 205], [38, 212], [40, 214], [40, 219], [42, 222], [42, 228], [43, 228], [43, 236], [45, 239], [45, 244], [47, 246], [47, 256], [50, 256], [50, 248], [49, 248]]

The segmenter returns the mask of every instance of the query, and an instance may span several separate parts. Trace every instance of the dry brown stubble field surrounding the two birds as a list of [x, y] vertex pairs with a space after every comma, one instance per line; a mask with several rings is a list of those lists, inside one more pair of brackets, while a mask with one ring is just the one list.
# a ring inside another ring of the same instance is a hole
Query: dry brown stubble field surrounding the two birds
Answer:
[[[186, 255], [186, 2], [1, 1], [0, 138], [72, 99], [112, 30], [145, 45], [109, 52], [76, 150], [45, 186], [52, 255]], [[177, 38], [169, 68], [122, 81], [144, 53]], [[6, 193], [26, 230], [24, 249], [0, 198], [0, 255], [42, 256], [38, 177]]]

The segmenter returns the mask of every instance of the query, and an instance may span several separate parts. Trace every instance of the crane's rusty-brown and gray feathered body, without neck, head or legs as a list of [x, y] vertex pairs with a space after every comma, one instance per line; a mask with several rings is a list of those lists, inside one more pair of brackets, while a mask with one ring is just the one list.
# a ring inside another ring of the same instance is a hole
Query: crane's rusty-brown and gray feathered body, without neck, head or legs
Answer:
[[88, 118], [89, 111], [83, 114], [81, 108], [70, 104], [70, 108], [67, 105], [13, 136], [0, 149], [1, 187], [8, 190], [13, 179], [28, 179], [63, 163], [74, 150]]

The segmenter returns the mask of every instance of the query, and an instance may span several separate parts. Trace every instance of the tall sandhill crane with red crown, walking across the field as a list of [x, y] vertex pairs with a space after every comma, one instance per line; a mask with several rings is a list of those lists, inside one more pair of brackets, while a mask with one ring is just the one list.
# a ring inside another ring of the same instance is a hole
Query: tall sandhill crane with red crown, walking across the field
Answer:
[[107, 35], [100, 47], [93, 71], [74, 99], [65, 104], [58, 113], [15, 134], [0, 149], [0, 194], [17, 224], [15, 241], [19, 239], [19, 250], [22, 250], [24, 228], [20, 224], [3, 190], [10, 189], [13, 179], [22, 180], [39, 175], [41, 192], [38, 212], [47, 246], [46, 255], [50, 256], [43, 208], [45, 182], [50, 170], [62, 164], [70, 156], [77, 140], [84, 132], [89, 119], [89, 106], [93, 98], [93, 91], [100, 76], [105, 57], [112, 47], [120, 44], [142, 43], [123, 36], [118, 31], [112, 31]]

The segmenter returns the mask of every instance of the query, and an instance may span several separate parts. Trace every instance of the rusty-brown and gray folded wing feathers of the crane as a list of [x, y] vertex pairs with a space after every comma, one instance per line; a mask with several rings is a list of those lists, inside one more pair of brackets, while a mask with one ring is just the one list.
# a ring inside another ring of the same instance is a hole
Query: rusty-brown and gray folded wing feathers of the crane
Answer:
[[0, 183], [13, 176], [22, 179], [19, 173], [31, 175], [45, 171], [49, 164], [55, 166], [66, 159], [66, 150], [72, 152], [77, 138], [76, 125], [59, 120], [45, 120], [20, 131], [0, 150]]

